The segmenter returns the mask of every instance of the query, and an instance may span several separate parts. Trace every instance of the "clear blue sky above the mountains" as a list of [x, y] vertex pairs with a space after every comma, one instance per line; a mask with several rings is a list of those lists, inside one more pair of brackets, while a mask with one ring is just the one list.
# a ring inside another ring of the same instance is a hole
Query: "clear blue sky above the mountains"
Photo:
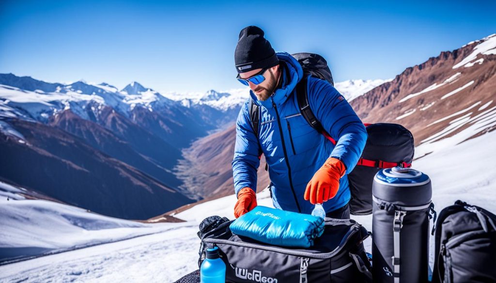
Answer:
[[496, 33], [494, 0], [302, 2], [0, 0], [0, 73], [162, 92], [239, 88], [238, 34], [257, 25], [276, 51], [323, 55], [335, 81], [386, 79]]

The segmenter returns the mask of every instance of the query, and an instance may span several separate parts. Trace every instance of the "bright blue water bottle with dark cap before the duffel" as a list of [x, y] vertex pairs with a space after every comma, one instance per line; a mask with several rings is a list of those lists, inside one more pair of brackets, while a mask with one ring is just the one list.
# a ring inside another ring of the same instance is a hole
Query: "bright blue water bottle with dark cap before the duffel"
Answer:
[[226, 264], [219, 257], [219, 248], [207, 249], [200, 267], [200, 283], [225, 283]]

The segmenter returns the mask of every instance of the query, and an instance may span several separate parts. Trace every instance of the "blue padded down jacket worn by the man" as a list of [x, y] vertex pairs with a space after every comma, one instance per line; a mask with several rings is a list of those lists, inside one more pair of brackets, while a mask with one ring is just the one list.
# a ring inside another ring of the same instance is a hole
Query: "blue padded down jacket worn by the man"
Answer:
[[324, 202], [327, 212], [339, 209], [350, 200], [348, 173], [357, 164], [367, 140], [360, 118], [341, 94], [327, 81], [309, 77], [307, 93], [315, 117], [336, 140], [336, 146], [313, 129], [300, 113], [295, 95], [296, 84], [303, 77], [298, 61], [287, 53], [277, 53], [282, 66], [282, 85], [260, 106], [258, 139], [249, 117], [248, 103], [236, 121], [236, 145], [233, 159], [235, 193], [244, 187], [256, 188], [256, 171], [263, 153], [269, 167], [274, 207], [310, 214], [313, 205], [304, 199], [313, 174], [329, 157], [341, 160], [346, 173], [340, 180], [337, 195]]

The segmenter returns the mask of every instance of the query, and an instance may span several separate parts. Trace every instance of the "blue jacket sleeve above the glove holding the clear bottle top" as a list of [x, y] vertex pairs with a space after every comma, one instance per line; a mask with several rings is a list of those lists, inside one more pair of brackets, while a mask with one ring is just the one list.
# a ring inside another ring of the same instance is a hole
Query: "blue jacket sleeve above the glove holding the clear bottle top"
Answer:
[[367, 141], [364, 124], [344, 97], [327, 81], [309, 78], [310, 109], [336, 140], [329, 157], [341, 160], [349, 174], [362, 156]]

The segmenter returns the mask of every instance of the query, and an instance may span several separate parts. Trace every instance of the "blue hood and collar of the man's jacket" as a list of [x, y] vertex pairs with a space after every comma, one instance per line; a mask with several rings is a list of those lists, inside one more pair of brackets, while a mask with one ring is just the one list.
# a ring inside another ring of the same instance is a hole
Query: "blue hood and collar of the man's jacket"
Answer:
[[291, 95], [296, 87], [296, 84], [303, 78], [303, 69], [300, 63], [295, 57], [289, 55], [286, 52], [276, 53], [279, 61], [284, 62], [281, 66], [286, 65], [282, 68], [282, 86], [274, 92], [274, 94], [265, 101], [258, 101], [255, 94], [250, 90], [249, 94], [253, 99], [253, 103], [263, 106], [267, 109], [272, 108], [272, 100], [277, 106], [280, 106], [286, 102], [288, 97]]

